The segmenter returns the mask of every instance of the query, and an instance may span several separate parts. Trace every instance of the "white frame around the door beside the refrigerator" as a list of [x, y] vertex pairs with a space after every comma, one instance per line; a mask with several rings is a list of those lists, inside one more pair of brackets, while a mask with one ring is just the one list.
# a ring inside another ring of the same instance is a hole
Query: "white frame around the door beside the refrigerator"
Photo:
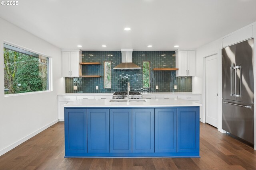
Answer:
[[217, 68], [216, 68], [216, 71], [217, 71], [217, 84], [218, 84], [218, 87], [217, 87], [217, 93], [218, 93], [218, 96], [217, 96], [217, 128], [218, 128], [218, 131], [222, 132], [222, 133], [226, 133], [226, 131], [222, 130], [222, 71], [221, 71], [221, 49], [218, 50], [218, 51], [214, 51], [212, 52], [210, 55], [206, 55], [203, 57], [203, 91], [202, 91], [202, 110], [203, 110], [203, 113], [202, 113], [202, 118], [201, 118], [201, 121], [203, 123], [205, 123], [205, 118], [206, 118], [206, 81], [205, 81], [205, 61], [206, 61], [206, 57], [210, 57], [210, 56], [213, 56], [213, 55], [217, 55], [217, 62], [218, 62], [218, 65], [217, 65]]

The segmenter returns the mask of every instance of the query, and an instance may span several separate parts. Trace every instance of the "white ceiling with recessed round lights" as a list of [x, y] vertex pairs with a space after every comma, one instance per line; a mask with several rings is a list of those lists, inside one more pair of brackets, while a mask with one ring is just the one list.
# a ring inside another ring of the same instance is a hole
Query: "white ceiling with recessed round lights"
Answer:
[[256, 21], [256, 0], [21, 0], [0, 17], [61, 49], [172, 51]]

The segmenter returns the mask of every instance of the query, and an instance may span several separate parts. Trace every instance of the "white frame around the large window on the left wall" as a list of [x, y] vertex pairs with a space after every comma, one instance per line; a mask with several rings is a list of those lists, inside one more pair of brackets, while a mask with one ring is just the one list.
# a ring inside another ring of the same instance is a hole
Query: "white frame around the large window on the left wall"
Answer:
[[[21, 50], [25, 50], [25, 51], [28, 51], [30, 53], [35, 53], [37, 55], [41, 55], [43, 57], [46, 57], [48, 58], [48, 90], [42, 90], [42, 91], [37, 91], [37, 92], [25, 92], [25, 93], [16, 93], [16, 94], [4, 94], [4, 97], [11, 97], [11, 96], [22, 96], [22, 95], [28, 95], [28, 94], [39, 94], [39, 93], [46, 93], [46, 92], [52, 92], [52, 57], [48, 56], [48, 55], [45, 55], [43, 53], [39, 53], [37, 51], [34, 51], [34, 50], [31, 50], [31, 49], [28, 49], [26, 47], [22, 47], [20, 45], [16, 45], [14, 43], [10, 43], [8, 41], [4, 41], [3, 42], [3, 49], [4, 50], [4, 44], [6, 45], [10, 45], [10, 46], [13, 46], [13, 47], [16, 47], [16, 48], [19, 48]], [[4, 52], [4, 51], [3, 51]], [[19, 52], [20, 53], [20, 52]], [[3, 53], [4, 54], [4, 53]], [[4, 68], [3, 68], [4, 69]], [[3, 92], [4, 93], [4, 92]]]

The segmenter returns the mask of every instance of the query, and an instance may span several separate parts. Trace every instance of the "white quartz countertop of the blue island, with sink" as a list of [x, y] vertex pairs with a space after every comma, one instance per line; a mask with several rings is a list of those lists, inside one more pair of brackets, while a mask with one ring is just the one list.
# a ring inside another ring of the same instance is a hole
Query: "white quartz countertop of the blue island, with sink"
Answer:
[[[202, 104], [183, 99], [132, 99], [131, 102], [110, 102], [113, 99], [80, 99], [64, 107], [188, 107]], [[120, 99], [116, 99], [120, 100]], [[123, 101], [125, 99], [121, 99]], [[140, 100], [146, 100], [142, 102]], [[138, 102], [139, 101], [139, 102]]]

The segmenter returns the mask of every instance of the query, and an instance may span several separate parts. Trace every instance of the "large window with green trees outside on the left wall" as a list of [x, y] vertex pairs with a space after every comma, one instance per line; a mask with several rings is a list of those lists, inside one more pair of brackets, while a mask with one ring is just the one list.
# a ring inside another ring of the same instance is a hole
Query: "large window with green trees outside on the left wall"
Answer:
[[4, 94], [49, 90], [49, 58], [4, 44]]

